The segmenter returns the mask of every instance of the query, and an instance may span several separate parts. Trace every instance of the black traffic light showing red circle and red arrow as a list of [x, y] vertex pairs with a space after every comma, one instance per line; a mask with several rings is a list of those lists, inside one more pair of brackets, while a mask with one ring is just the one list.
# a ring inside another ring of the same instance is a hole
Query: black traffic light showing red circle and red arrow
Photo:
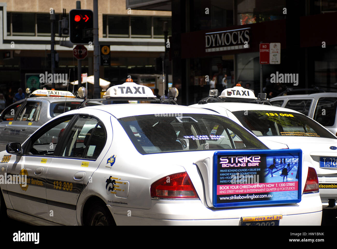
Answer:
[[69, 12], [70, 42], [88, 44], [94, 40], [93, 13], [90, 9], [72, 9]]

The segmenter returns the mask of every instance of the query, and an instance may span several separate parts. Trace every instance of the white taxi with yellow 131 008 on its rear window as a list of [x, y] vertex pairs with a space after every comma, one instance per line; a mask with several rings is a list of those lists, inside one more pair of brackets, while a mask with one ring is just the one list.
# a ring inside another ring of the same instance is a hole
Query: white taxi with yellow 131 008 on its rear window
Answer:
[[213, 110], [234, 120], [271, 149], [276, 147], [270, 142], [302, 149], [305, 163], [318, 174], [323, 206], [336, 208], [337, 137], [334, 134], [306, 115], [271, 106], [265, 94], [256, 98], [252, 91], [241, 86], [225, 89], [220, 96], [213, 90], [210, 95], [191, 106]]

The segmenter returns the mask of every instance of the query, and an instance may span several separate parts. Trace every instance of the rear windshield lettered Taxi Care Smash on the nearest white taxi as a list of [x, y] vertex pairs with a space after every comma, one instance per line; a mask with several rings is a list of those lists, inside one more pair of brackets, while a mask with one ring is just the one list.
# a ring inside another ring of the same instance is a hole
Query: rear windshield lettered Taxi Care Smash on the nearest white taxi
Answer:
[[141, 154], [268, 149], [232, 120], [212, 114], [151, 114], [118, 119]]

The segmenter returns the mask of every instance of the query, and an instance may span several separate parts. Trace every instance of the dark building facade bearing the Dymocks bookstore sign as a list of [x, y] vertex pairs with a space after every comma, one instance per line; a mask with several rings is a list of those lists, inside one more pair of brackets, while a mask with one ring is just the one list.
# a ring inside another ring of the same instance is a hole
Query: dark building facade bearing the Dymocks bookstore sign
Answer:
[[[210, 81], [224, 89], [241, 82], [269, 98], [286, 87], [337, 87], [335, 0], [127, 0], [137, 9], [172, 10], [170, 55], [180, 103], [207, 96]], [[246, 42], [246, 46], [245, 45]], [[280, 64], [259, 63], [260, 43], [280, 43]], [[260, 76], [262, 74], [262, 77]], [[277, 80], [273, 74], [292, 74]], [[296, 79], [296, 80], [295, 80]]]

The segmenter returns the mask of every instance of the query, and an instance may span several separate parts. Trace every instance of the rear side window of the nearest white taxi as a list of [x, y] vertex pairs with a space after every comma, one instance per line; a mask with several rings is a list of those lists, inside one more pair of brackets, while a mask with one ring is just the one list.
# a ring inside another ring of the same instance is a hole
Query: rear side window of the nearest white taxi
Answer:
[[96, 118], [80, 116], [71, 127], [60, 156], [96, 159], [105, 141], [106, 134], [102, 124]]

